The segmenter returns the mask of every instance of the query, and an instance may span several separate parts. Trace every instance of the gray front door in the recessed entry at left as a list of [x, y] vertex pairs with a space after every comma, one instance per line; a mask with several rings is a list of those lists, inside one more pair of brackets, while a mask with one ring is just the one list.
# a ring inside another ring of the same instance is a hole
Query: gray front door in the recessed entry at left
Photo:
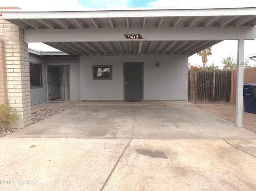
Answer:
[[59, 68], [48, 68], [49, 79], [49, 96], [50, 100], [60, 98], [60, 82], [59, 82]]

